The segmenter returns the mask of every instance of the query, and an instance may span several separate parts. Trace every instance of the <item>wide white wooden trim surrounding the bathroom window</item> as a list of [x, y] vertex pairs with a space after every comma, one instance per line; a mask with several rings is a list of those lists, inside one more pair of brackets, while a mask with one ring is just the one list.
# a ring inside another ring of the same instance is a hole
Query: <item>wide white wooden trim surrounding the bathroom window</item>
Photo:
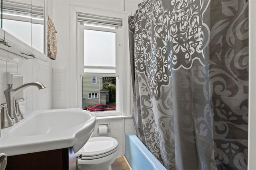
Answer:
[[[119, 68], [119, 77], [117, 87], [120, 87], [116, 96], [119, 96], [118, 102], [119, 107], [118, 111], [115, 113], [110, 111], [110, 114], [102, 114], [96, 115], [102, 116], [102, 118], [108, 118], [109, 116], [129, 116], [131, 115], [131, 75], [130, 75], [130, 57], [129, 57], [129, 41], [128, 41], [128, 16], [131, 15], [130, 12], [125, 11], [110, 11], [110, 10], [102, 10], [96, 8], [88, 8], [83, 6], [76, 6], [73, 4], [69, 4], [69, 13], [67, 14], [67, 18], [70, 18], [70, 22], [68, 23], [69, 27], [69, 37], [70, 41], [67, 44], [69, 47], [69, 56], [70, 62], [68, 63], [68, 78], [67, 78], [67, 107], [79, 107], [82, 108], [82, 77], [80, 75], [80, 23], [77, 20], [78, 13], [84, 13], [86, 11], [87, 14], [94, 14], [100, 16], [107, 16], [112, 18], [121, 18], [123, 20], [123, 26], [120, 28], [120, 61], [118, 63]], [[76, 57], [71, 57], [76, 54]], [[72, 68], [77, 68], [74, 70]], [[74, 75], [77, 75], [76, 77]], [[94, 75], [97, 76], [97, 75]], [[77, 82], [77, 84], [74, 84]], [[74, 100], [76, 98], [76, 100]]]

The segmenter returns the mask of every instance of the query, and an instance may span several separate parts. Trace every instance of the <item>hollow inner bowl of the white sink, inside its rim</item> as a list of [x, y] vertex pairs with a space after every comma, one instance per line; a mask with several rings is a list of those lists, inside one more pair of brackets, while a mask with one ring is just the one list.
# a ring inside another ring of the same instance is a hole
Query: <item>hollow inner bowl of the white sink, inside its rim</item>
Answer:
[[38, 113], [15, 127], [10, 135], [34, 136], [60, 133], [89, 121], [91, 114], [79, 111], [50, 111]]

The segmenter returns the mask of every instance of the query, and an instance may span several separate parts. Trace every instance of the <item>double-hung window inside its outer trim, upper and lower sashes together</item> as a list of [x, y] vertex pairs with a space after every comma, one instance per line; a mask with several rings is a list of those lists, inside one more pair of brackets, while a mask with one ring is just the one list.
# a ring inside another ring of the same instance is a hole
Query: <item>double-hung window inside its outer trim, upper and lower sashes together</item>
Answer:
[[[78, 16], [81, 15], [78, 14]], [[90, 17], [85, 15], [86, 17]], [[94, 16], [95, 17], [95, 16]], [[99, 17], [99, 16], [96, 16]], [[122, 24], [122, 22], [120, 22]], [[88, 99], [98, 100], [83, 100], [83, 108], [89, 108], [91, 111], [117, 111], [118, 103], [116, 97], [116, 89], [119, 87], [119, 57], [120, 57], [120, 26], [112, 24], [102, 24], [93, 21], [80, 22], [80, 33], [82, 36], [81, 42], [81, 75], [82, 75], [82, 91], [83, 95], [88, 90], [94, 90], [95, 93], [88, 93]], [[97, 74], [97, 76], [94, 76]], [[97, 84], [90, 86], [86, 79], [91, 76], [91, 84]], [[109, 76], [108, 76], [109, 75]], [[96, 90], [98, 91], [96, 93]], [[103, 104], [95, 108], [97, 104]], [[103, 106], [111, 109], [100, 109]]]

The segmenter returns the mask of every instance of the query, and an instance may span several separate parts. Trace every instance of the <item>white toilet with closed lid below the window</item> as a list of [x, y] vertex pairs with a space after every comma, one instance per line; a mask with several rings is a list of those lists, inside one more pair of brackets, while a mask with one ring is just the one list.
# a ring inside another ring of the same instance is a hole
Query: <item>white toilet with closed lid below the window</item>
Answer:
[[78, 154], [78, 170], [111, 170], [118, 155], [118, 141], [112, 137], [92, 137]]

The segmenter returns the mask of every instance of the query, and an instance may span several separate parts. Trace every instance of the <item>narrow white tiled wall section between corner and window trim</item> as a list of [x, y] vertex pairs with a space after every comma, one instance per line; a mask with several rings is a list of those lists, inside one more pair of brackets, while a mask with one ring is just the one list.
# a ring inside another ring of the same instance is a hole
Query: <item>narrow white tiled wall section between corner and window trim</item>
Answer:
[[66, 68], [52, 68], [52, 109], [66, 108]]

